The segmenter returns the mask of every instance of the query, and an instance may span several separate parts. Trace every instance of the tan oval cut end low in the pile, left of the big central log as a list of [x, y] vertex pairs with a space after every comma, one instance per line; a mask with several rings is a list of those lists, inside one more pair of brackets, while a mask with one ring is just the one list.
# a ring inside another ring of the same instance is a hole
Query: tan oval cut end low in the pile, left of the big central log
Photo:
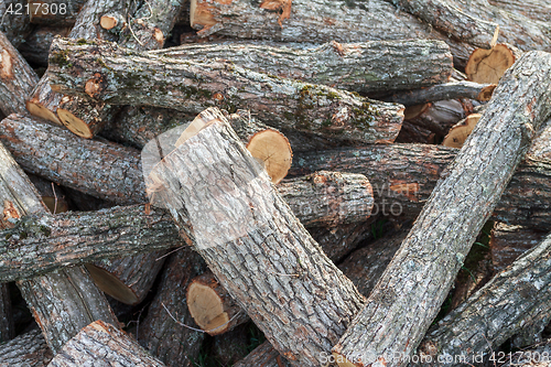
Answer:
[[187, 289], [186, 299], [190, 313], [202, 330], [209, 335], [226, 332], [229, 316], [224, 311], [223, 300], [212, 288], [194, 282]]

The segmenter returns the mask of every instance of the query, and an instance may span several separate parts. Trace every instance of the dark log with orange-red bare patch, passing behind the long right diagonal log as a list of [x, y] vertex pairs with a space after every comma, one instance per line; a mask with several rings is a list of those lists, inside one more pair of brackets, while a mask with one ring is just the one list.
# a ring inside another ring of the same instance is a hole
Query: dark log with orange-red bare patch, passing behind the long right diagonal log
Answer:
[[[414, 219], [458, 150], [439, 145], [392, 144], [295, 154], [290, 175], [318, 170], [365, 174], [374, 190], [372, 214]], [[527, 156], [512, 176], [491, 218], [551, 230], [551, 163]]]

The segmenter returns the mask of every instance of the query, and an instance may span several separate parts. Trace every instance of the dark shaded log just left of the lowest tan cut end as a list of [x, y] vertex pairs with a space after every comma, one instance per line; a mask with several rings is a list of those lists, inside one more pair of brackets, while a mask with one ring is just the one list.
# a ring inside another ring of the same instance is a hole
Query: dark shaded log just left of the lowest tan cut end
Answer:
[[159, 293], [140, 323], [140, 344], [169, 367], [194, 367], [205, 334], [195, 327], [186, 304], [192, 279], [206, 269], [201, 257], [188, 246], [172, 253], [163, 271]]

